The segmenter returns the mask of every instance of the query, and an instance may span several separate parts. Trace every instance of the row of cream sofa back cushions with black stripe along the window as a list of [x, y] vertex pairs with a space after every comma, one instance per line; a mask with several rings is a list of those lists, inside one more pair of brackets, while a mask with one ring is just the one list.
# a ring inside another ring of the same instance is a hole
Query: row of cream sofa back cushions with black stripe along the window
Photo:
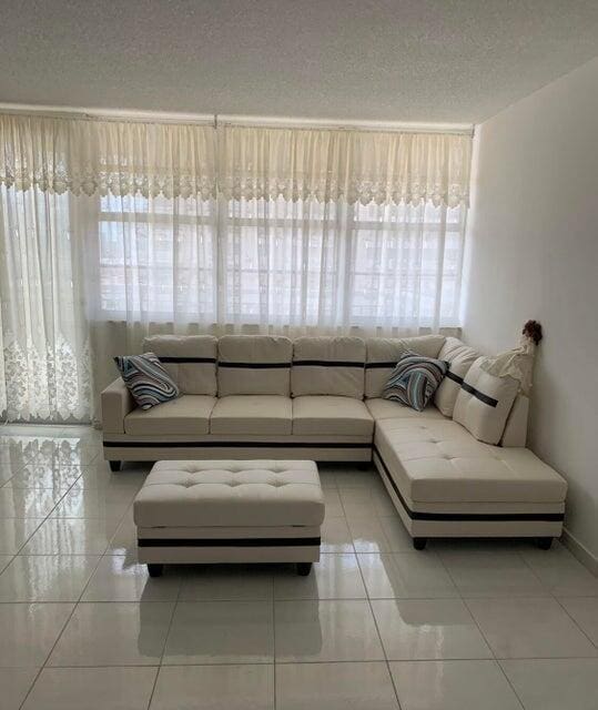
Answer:
[[183, 394], [381, 397], [402, 354], [436, 357], [442, 335], [407, 338], [155, 335], [155, 353]]

